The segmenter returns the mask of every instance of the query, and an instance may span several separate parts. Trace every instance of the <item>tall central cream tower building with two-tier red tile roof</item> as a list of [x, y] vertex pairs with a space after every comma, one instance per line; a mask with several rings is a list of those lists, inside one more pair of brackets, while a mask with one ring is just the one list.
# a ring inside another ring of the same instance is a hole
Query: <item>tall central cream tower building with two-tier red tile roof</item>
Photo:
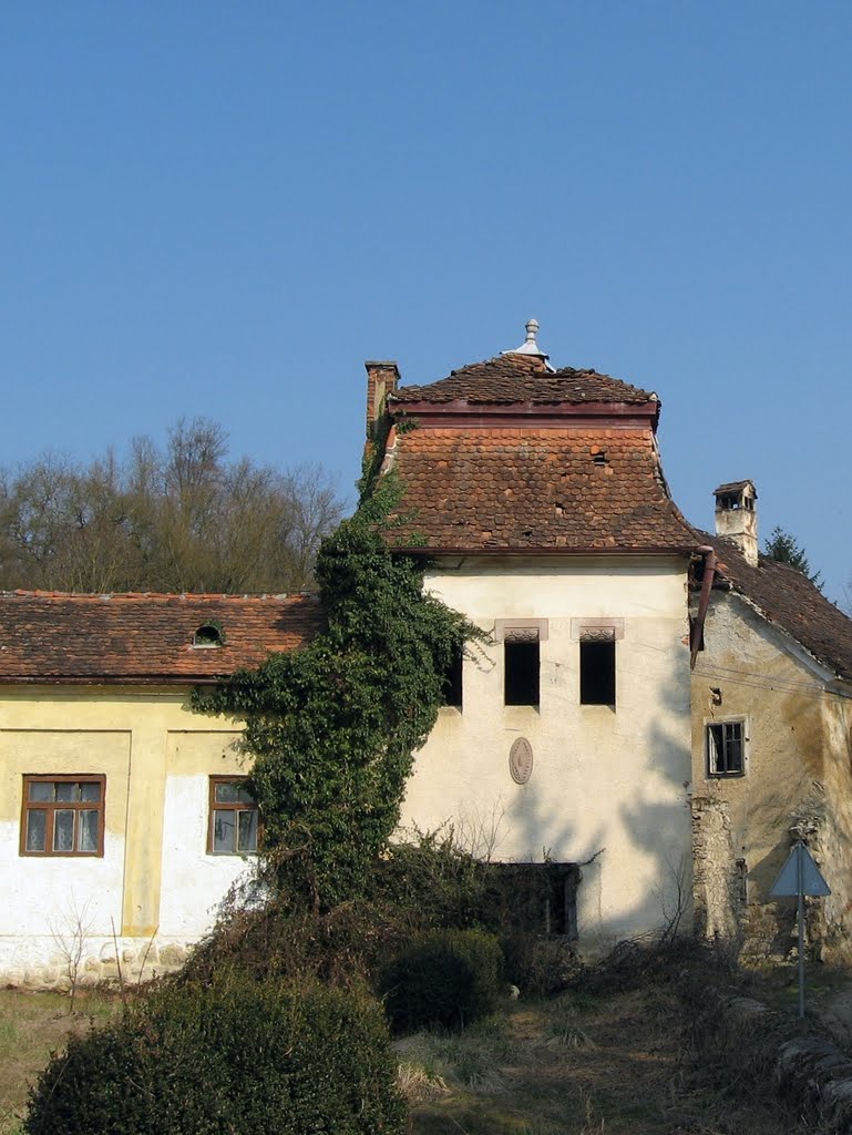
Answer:
[[691, 917], [699, 541], [663, 477], [657, 396], [554, 370], [535, 330], [424, 386], [368, 363], [368, 427], [404, 490], [394, 539], [494, 639], [450, 683], [404, 823], [452, 824], [498, 859], [580, 865], [560, 919], [582, 945]]

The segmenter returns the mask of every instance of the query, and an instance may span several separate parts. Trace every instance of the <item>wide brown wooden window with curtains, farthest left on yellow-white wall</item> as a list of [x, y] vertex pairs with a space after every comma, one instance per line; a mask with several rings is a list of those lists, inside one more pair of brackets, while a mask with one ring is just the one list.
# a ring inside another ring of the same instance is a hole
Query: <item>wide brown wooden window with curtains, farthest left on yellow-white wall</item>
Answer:
[[25, 776], [22, 855], [103, 855], [104, 776]]

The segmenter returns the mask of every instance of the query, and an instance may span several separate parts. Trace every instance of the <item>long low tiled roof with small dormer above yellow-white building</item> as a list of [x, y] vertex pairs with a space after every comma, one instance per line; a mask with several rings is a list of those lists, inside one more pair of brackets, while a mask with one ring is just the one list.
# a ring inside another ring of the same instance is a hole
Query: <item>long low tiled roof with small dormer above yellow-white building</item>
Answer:
[[[225, 645], [194, 647], [212, 621]], [[311, 595], [0, 592], [0, 682], [209, 681], [294, 650], [322, 625]]]

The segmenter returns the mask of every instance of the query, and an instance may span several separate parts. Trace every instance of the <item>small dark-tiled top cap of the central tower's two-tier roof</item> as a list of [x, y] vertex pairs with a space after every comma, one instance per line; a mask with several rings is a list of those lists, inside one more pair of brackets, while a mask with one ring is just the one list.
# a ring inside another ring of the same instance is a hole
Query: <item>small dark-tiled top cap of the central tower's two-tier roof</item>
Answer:
[[589, 402], [635, 404], [651, 400], [656, 400], [656, 395], [593, 370], [565, 367], [548, 372], [539, 359], [501, 355], [462, 367], [428, 386], [399, 387], [388, 403], [393, 409], [397, 403], [408, 402], [581, 405]]

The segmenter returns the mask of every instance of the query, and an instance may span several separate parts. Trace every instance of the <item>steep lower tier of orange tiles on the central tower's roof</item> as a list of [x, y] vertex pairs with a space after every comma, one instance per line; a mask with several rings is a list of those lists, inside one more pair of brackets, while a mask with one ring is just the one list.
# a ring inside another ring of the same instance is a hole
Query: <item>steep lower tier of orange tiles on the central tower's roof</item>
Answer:
[[650, 428], [431, 427], [395, 440], [411, 518], [393, 538], [459, 550], [681, 550]]

